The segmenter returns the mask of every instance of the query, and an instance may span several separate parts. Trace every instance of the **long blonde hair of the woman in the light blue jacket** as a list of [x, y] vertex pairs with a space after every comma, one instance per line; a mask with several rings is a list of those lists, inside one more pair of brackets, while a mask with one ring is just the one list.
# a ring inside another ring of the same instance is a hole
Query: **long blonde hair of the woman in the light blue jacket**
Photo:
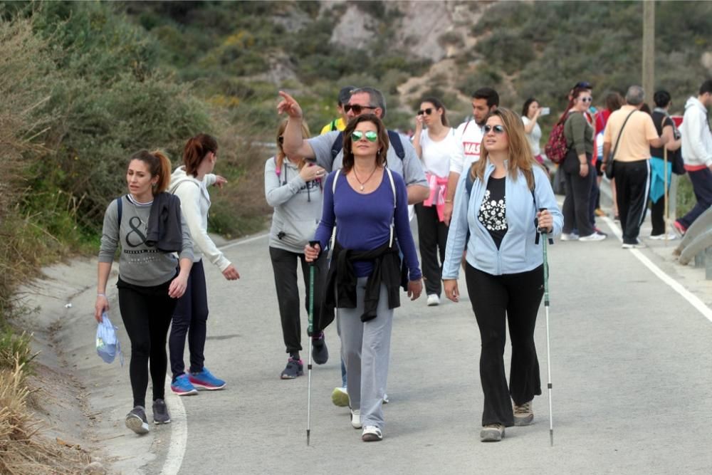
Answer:
[[[529, 189], [534, 189], [534, 172], [533, 168], [541, 167], [534, 157], [532, 157], [531, 147], [527, 136], [524, 132], [524, 122], [518, 114], [506, 108], [497, 108], [490, 114], [496, 115], [502, 120], [504, 130], [508, 137], [508, 162], [507, 169], [512, 179], [517, 179], [518, 171], [524, 174], [527, 179]], [[483, 138], [484, 142], [484, 138]], [[470, 174], [473, 178], [479, 178], [484, 181], [485, 169], [487, 167], [487, 149], [480, 147], [480, 160], [473, 162], [470, 167]]]

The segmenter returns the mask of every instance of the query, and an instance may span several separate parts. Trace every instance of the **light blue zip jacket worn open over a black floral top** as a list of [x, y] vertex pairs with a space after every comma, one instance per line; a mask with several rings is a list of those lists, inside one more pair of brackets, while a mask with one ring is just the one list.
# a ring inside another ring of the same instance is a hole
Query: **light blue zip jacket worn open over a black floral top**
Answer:
[[[533, 167], [534, 193], [527, 186], [522, 172], [517, 179], [508, 173], [505, 181], [507, 232], [500, 249], [494, 243], [486, 227], [477, 219], [478, 210], [487, 190], [487, 181], [494, 172], [494, 165], [488, 162], [484, 182], [475, 178], [472, 192], [467, 193], [466, 179], [469, 170], [460, 176], [455, 192], [455, 203], [450, 220], [445, 262], [442, 278], [457, 278], [460, 271], [462, 251], [467, 244], [467, 262], [474, 268], [499, 276], [508, 273], [531, 271], [543, 263], [541, 239], [535, 244], [536, 228], [534, 219], [539, 208], [546, 208], [553, 216], [553, 236], [561, 234], [563, 215], [554, 197], [553, 189], [546, 173], [540, 167]], [[467, 231], [470, 238], [467, 239]]]

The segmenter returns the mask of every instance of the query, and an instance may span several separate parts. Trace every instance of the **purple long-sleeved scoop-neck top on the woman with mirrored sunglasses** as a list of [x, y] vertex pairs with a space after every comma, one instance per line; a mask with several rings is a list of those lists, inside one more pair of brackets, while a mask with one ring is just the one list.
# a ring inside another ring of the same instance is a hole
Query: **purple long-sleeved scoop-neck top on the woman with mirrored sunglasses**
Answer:
[[[408, 266], [409, 279], [417, 281], [421, 278], [421, 272], [408, 221], [408, 194], [403, 178], [396, 172], [391, 173], [397, 196], [395, 210], [391, 182], [385, 169], [379, 187], [368, 194], [357, 193], [352, 189], [342, 172], [339, 173], [336, 192], [333, 193], [336, 172], [331, 172], [324, 184], [324, 208], [315, 239], [320, 242], [321, 249], [326, 249], [333, 227], [338, 223], [336, 240], [341, 246], [355, 251], [370, 251], [387, 243], [391, 235], [391, 223], [394, 222], [394, 237], [398, 239]], [[372, 268], [371, 261], [354, 262], [357, 277], [369, 276]]]

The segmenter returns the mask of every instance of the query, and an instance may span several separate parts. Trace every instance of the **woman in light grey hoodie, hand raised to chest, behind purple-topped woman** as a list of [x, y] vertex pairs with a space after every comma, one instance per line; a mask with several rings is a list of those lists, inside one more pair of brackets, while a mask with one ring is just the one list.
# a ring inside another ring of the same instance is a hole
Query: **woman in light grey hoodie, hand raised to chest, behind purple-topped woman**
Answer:
[[[281, 372], [283, 380], [291, 380], [304, 374], [299, 352], [301, 325], [299, 316], [299, 289], [297, 266], [301, 262], [306, 296], [305, 308], [309, 309], [309, 266], [304, 259], [304, 246], [313, 239], [319, 224], [322, 207], [322, 179], [325, 170], [301, 157], [287, 157], [282, 150], [282, 134], [286, 121], [277, 132], [277, 154], [265, 163], [265, 196], [274, 207], [269, 236], [269, 253], [277, 288], [282, 335], [287, 366]], [[303, 126], [302, 133], [308, 137]], [[323, 281], [326, 276], [326, 257], [315, 261], [314, 321], [320, 321], [318, 313], [323, 301]], [[323, 332], [315, 328], [312, 337], [314, 362], [323, 365], [328, 360], [328, 350]]]

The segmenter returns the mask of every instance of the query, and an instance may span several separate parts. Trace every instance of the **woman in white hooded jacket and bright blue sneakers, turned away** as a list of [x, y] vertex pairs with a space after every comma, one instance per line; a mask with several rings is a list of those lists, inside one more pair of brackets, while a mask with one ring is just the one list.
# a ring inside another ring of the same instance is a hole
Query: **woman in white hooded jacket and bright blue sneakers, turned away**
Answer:
[[[228, 261], [208, 235], [208, 210], [211, 184], [221, 187], [226, 179], [212, 174], [217, 160], [218, 145], [214, 137], [199, 134], [188, 140], [183, 152], [182, 167], [172, 174], [170, 192], [180, 198], [183, 216], [193, 240], [193, 267], [188, 287], [173, 313], [168, 340], [173, 378], [171, 390], [179, 396], [197, 394], [196, 387], [220, 390], [225, 382], [204, 366], [208, 301], [202, 256], [214, 263], [229, 281], [240, 278], [235, 266]], [[190, 352], [189, 372], [185, 372], [183, 352], [186, 335]]]

